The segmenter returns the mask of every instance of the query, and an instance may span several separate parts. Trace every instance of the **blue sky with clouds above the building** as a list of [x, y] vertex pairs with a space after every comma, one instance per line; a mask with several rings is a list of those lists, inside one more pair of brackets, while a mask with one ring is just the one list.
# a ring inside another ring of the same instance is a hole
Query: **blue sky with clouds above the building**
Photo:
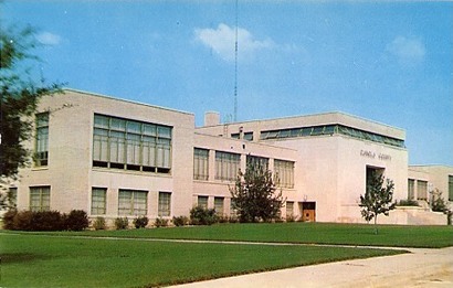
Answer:
[[[4, 1], [50, 82], [234, 114], [234, 1]], [[339, 110], [403, 128], [411, 164], [453, 166], [453, 2], [244, 1], [238, 120]]]

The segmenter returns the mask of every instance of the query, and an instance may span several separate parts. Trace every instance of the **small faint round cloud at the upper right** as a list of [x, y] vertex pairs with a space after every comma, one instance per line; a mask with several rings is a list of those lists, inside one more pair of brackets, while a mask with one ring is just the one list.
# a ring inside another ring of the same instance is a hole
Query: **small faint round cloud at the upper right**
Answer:
[[387, 44], [386, 51], [398, 57], [401, 64], [418, 64], [424, 60], [426, 53], [423, 42], [420, 39], [408, 39], [397, 36]]

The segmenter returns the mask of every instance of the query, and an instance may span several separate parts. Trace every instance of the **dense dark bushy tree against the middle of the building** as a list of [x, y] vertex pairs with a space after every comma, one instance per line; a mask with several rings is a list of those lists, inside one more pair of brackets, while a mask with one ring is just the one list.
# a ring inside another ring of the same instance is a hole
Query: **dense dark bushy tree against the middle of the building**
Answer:
[[233, 209], [240, 222], [271, 221], [278, 217], [285, 200], [276, 192], [272, 172], [262, 163], [250, 162], [245, 173], [238, 172], [235, 185], [230, 188]]

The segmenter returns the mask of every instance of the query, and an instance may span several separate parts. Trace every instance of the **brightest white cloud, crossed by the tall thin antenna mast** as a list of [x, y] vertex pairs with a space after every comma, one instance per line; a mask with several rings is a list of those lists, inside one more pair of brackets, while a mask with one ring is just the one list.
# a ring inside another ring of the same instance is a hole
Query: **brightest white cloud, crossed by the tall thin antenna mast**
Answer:
[[[225, 61], [234, 61], [235, 29], [220, 23], [217, 29], [196, 29], [196, 39], [212, 49]], [[260, 50], [276, 46], [271, 39], [255, 40], [247, 30], [238, 29], [238, 49], [241, 57], [252, 56]]]

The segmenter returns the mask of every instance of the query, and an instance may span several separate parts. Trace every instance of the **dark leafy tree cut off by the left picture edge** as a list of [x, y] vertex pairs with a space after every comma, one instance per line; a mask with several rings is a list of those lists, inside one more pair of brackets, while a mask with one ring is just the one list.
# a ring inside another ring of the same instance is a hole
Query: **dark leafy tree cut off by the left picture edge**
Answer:
[[[39, 99], [61, 90], [60, 84], [33, 81], [32, 64], [39, 61], [30, 53], [39, 44], [34, 34], [31, 26], [1, 26], [0, 31], [0, 184], [17, 179], [19, 169], [31, 162], [31, 151], [23, 143], [32, 138]], [[0, 207], [4, 205], [6, 193], [1, 193]]]

